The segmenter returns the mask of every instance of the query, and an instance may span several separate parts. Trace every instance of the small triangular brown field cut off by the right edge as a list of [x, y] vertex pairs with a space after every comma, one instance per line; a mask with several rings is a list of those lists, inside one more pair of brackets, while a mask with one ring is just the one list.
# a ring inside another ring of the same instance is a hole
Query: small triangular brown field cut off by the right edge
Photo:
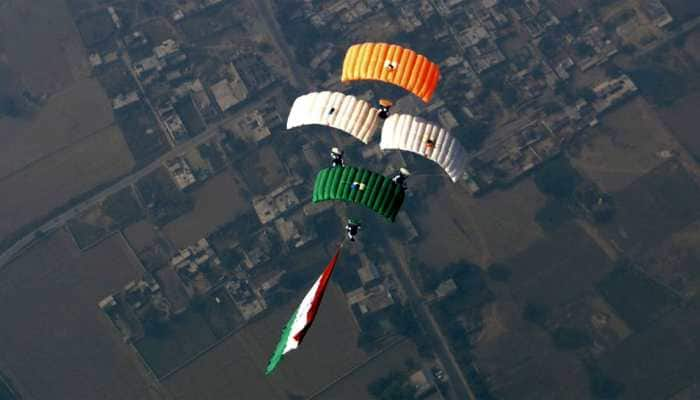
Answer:
[[659, 112], [666, 126], [696, 160], [700, 160], [698, 110], [700, 110], [700, 93], [694, 93], [678, 100], [673, 107], [664, 108]]

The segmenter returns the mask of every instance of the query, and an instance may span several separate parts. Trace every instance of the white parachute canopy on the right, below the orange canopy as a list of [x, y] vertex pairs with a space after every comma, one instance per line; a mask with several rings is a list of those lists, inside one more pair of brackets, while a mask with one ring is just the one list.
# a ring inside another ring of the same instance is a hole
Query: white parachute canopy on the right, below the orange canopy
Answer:
[[467, 164], [467, 152], [448, 131], [408, 114], [392, 114], [384, 121], [379, 147], [420, 154], [440, 165], [452, 182], [462, 177]]

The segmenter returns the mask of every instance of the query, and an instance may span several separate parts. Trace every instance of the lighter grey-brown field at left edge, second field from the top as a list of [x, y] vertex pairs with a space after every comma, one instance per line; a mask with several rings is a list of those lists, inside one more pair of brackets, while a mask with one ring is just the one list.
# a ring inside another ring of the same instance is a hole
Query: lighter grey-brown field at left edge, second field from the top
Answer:
[[31, 119], [0, 118], [0, 179], [109, 126], [112, 106], [94, 79], [51, 97]]

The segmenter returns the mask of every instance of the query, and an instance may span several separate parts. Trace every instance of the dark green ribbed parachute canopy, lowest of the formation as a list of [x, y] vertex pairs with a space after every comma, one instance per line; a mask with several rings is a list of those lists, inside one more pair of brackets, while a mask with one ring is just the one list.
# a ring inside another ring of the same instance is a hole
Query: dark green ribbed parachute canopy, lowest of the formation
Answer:
[[390, 178], [362, 168], [331, 167], [316, 175], [313, 202], [340, 200], [361, 204], [394, 221], [405, 192]]

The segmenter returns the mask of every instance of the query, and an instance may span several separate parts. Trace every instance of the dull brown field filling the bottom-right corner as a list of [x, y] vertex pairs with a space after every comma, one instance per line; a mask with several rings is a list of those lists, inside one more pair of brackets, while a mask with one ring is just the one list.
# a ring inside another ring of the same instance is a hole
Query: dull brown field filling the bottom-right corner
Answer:
[[602, 360], [625, 385], [621, 399], [665, 399], [697, 382], [700, 371], [700, 298], [631, 336]]

